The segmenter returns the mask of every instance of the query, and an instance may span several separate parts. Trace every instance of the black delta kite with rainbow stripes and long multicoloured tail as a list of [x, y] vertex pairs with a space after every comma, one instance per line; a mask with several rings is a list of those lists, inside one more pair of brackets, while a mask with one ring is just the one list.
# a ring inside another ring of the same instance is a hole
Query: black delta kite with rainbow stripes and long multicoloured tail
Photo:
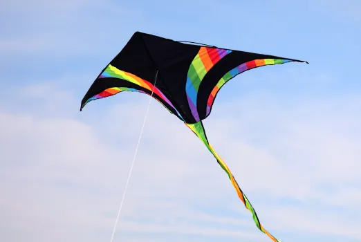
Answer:
[[252, 68], [288, 62], [304, 61], [135, 32], [93, 82], [82, 99], [80, 111], [92, 100], [122, 91], [154, 97], [201, 139], [228, 174], [258, 229], [279, 242], [261, 225], [232, 172], [208, 142], [202, 120], [210, 115], [216, 95], [232, 78]]

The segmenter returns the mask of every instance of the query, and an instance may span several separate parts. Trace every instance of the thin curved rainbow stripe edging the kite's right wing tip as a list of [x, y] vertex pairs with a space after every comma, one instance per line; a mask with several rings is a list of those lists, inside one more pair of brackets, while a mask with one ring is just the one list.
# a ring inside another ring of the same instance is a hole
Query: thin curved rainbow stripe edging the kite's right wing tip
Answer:
[[228, 71], [228, 73], [225, 73], [225, 75], [223, 75], [221, 80], [219, 80], [219, 82], [216, 84], [216, 86], [214, 86], [214, 89], [210, 93], [210, 96], [208, 97], [208, 101], [207, 101], [207, 108], [206, 108], [205, 115], [207, 116], [210, 114], [211, 107], [214, 102], [214, 97], [216, 97], [219, 89], [221, 89], [221, 87], [226, 82], [231, 80], [236, 75], [243, 73], [245, 71], [248, 71], [252, 68], [257, 68], [260, 66], [267, 66], [267, 65], [284, 64], [287, 62], [292, 62], [292, 61], [289, 59], [254, 59], [250, 62], [243, 63], [243, 64], [237, 66], [236, 68], [233, 68], [231, 71]]

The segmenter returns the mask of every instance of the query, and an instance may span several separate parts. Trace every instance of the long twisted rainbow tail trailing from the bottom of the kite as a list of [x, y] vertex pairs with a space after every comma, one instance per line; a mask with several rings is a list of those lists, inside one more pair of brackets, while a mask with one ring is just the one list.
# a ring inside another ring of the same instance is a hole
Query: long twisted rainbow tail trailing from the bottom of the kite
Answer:
[[210, 152], [213, 154], [213, 156], [216, 158], [217, 162], [219, 163], [219, 165], [222, 167], [222, 169], [228, 174], [228, 177], [230, 178], [232, 185], [234, 187], [234, 189], [236, 189], [237, 194], [239, 196], [239, 198], [241, 199], [241, 201], [244, 203], [244, 205], [246, 206], [246, 208], [248, 210], [250, 210], [250, 212], [252, 213], [253, 216], [253, 220], [254, 223], [256, 223], [257, 227], [259, 228], [259, 230], [261, 230], [261, 232], [267, 234], [270, 239], [272, 239], [272, 241], [274, 242], [281, 242], [278, 239], [275, 238], [275, 236], [273, 236], [272, 234], [270, 234], [266, 229], [263, 228], [263, 226], [261, 225], [261, 222], [259, 221], [259, 218], [256, 214], [256, 211], [254, 211], [254, 208], [252, 207], [252, 205], [250, 204], [250, 201], [248, 201], [248, 198], [246, 197], [246, 195], [242, 192], [241, 188], [239, 187], [236, 179], [234, 178], [234, 176], [232, 175], [232, 172], [230, 171], [230, 169], [228, 168], [227, 165], [225, 165], [225, 162], [222, 160], [222, 158], [216, 153], [216, 151], [213, 149], [212, 145], [210, 145], [210, 143], [207, 140], [207, 136], [205, 135], [205, 130], [203, 127], [203, 123], [201, 121], [196, 122], [195, 124], [187, 124], [185, 123], [185, 125], [187, 125], [187, 127], [189, 127], [189, 129], [191, 129], [196, 136], [198, 136], [198, 138], [200, 138], [203, 143], [205, 144], [205, 146], [207, 147], [207, 149], [210, 150]]

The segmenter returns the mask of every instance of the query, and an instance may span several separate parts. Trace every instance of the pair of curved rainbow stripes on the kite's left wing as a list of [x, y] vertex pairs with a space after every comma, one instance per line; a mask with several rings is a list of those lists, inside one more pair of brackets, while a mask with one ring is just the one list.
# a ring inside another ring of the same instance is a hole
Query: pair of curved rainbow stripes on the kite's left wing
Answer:
[[[118, 68], [116, 68], [115, 66], [112, 66], [111, 64], [109, 64], [107, 66], [107, 68], [105, 68], [105, 70], [99, 76], [99, 78], [107, 78], [107, 77], [114, 77], [114, 78], [119, 78], [119, 79], [122, 79], [122, 80], [126, 80], [128, 82], [131, 82], [133, 84], [141, 86], [142, 88], [147, 89], [150, 92], [154, 92], [156, 95], [158, 95], [158, 97], [160, 97], [169, 106], [172, 106], [172, 108], [178, 114], [179, 118], [181, 118], [183, 120], [182, 115], [180, 115], [178, 110], [173, 106], [172, 102], [170, 102], [168, 100], [168, 98], [162, 93], [162, 91], [160, 91], [156, 86], [154, 86], [153, 84], [151, 84], [147, 80], [144, 80], [144, 79], [142, 79], [142, 78], [140, 78], [140, 77], [138, 77], [136, 75], [133, 75], [131, 73], [127, 73], [126, 71], [120, 71]], [[113, 88], [106, 89], [106, 90], [102, 91], [102, 93], [99, 93], [99, 94], [94, 95], [93, 97], [89, 98], [88, 100], [86, 100], [84, 106], [88, 102], [90, 102], [92, 100], [96, 100], [96, 99], [100, 99], [100, 98], [104, 98], [104, 97], [109, 97], [111, 95], [115, 95], [117, 93], [120, 93], [121, 91], [137, 91], [137, 92], [145, 93], [145, 94], [149, 95], [149, 93], [146, 93], [144, 91], [140, 91], [138, 89], [131, 89], [131, 88], [127, 88], [127, 87], [113, 87]], [[153, 96], [153, 97], [156, 98], [155, 96]], [[158, 99], [156, 98], [156, 100], [158, 100]], [[160, 103], [162, 103], [162, 102], [160, 102]], [[165, 105], [163, 104], [163, 106], [165, 106]], [[165, 108], [167, 108], [167, 106], [165, 106]], [[169, 111], [169, 109], [168, 109], [168, 111]], [[171, 112], [171, 111], [169, 111], [169, 112]]]

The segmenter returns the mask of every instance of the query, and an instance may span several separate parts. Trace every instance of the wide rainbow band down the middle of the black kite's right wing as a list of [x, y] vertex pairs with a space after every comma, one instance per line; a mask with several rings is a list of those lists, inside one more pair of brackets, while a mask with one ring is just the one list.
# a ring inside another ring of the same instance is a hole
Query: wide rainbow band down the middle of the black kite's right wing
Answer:
[[191, 109], [196, 122], [200, 120], [197, 110], [197, 97], [198, 89], [199, 86], [201, 86], [203, 77], [205, 77], [207, 72], [210, 71], [217, 62], [231, 52], [232, 50], [202, 46], [190, 64], [187, 73], [187, 82], [185, 84], [185, 92], [187, 93], [189, 108]]

